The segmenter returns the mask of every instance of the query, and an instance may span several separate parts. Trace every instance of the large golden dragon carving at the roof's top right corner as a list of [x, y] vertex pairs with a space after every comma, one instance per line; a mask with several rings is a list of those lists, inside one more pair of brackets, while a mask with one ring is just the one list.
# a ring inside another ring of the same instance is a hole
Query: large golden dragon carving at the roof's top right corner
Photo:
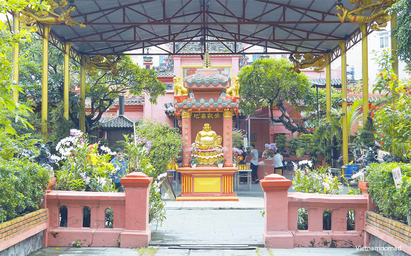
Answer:
[[[370, 26], [372, 30], [381, 31], [381, 27], [387, 26], [387, 21], [391, 20], [391, 15], [387, 14], [387, 8], [393, 4], [392, 0], [381, 0], [374, 2], [373, 0], [349, 0], [354, 6], [350, 11], [344, 7], [341, 0], [337, 1], [337, 17], [339, 21], [349, 20], [352, 23], [364, 24], [373, 22]], [[341, 11], [341, 14], [339, 13]], [[370, 11], [369, 15], [364, 15], [365, 11]], [[374, 23], [375, 22], [375, 23]]]

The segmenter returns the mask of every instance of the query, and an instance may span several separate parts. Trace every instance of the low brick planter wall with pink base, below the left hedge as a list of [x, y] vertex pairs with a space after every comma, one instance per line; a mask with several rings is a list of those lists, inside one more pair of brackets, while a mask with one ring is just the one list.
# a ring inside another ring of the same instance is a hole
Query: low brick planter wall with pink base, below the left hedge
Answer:
[[[39, 209], [0, 224], [0, 251], [47, 228], [47, 210]], [[35, 233], [33, 233], [35, 232]]]

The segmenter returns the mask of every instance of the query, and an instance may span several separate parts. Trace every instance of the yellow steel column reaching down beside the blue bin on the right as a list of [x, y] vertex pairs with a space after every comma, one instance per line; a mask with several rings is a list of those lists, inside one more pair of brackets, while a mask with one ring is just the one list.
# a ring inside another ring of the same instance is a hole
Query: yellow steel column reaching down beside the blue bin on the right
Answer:
[[348, 163], [348, 122], [347, 122], [347, 68], [345, 59], [345, 41], [339, 40], [341, 48], [341, 91], [342, 91], [342, 157], [344, 164]]

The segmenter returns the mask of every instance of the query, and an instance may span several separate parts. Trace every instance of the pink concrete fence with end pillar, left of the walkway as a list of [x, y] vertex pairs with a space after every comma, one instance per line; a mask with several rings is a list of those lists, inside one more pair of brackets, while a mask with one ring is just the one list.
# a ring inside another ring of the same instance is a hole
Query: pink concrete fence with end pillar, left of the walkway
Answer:
[[[148, 246], [148, 200], [152, 178], [132, 172], [121, 179], [125, 193], [54, 191], [46, 193], [48, 229], [44, 247]], [[60, 211], [67, 208], [67, 227], [60, 227]], [[90, 208], [90, 227], [83, 227], [84, 207]], [[113, 209], [113, 227], [106, 228], [106, 209]]]

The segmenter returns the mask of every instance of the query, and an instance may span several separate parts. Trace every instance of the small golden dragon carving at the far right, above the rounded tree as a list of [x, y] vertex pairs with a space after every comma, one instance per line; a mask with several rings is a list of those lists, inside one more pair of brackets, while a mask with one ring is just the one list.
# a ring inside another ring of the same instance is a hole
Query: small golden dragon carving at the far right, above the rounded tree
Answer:
[[[327, 54], [290, 54], [289, 60], [294, 64], [294, 67], [290, 68], [289, 70], [300, 73], [300, 69], [315, 67], [314, 72], [319, 73], [326, 67], [326, 56]], [[304, 59], [301, 59], [302, 57], [304, 57]]]

